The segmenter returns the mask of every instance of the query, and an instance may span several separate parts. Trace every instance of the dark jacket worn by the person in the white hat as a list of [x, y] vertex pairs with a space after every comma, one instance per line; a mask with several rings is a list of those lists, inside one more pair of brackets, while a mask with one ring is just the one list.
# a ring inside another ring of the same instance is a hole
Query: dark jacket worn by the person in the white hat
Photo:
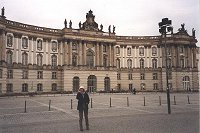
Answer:
[[78, 99], [77, 110], [79, 111], [83, 110], [84, 107], [85, 107], [85, 110], [88, 110], [88, 104], [90, 103], [90, 98], [88, 94], [85, 92], [83, 95], [80, 92], [78, 92], [76, 95], [76, 99]]

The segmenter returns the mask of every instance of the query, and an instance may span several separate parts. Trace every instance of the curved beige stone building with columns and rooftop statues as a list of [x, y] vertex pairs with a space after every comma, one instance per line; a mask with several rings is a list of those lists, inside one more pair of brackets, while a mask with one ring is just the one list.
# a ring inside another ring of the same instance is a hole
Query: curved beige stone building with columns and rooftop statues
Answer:
[[[0, 93], [198, 90], [197, 40], [184, 27], [158, 36], [103, 31], [90, 10], [79, 28], [51, 29], [0, 17]], [[165, 53], [164, 42], [167, 45]]]

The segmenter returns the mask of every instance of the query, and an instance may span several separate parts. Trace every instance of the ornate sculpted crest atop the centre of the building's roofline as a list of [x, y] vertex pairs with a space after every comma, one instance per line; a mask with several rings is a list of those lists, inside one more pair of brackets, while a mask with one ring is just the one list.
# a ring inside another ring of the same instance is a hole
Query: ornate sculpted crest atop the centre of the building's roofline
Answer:
[[79, 28], [83, 30], [91, 30], [91, 31], [98, 31], [98, 24], [94, 20], [95, 16], [93, 15], [93, 12], [90, 10], [86, 14], [86, 21], [81, 26], [81, 23], [79, 24]]

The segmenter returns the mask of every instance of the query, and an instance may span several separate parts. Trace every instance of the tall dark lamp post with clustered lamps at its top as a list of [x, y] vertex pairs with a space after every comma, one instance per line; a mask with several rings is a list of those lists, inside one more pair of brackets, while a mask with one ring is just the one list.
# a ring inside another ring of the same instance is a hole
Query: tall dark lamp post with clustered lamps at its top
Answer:
[[168, 82], [168, 53], [167, 53], [167, 44], [166, 44], [166, 35], [168, 32], [172, 32], [173, 28], [171, 26], [172, 21], [168, 18], [163, 18], [162, 22], [159, 22], [159, 32], [162, 34], [161, 37], [164, 36], [164, 45], [165, 45], [165, 69], [166, 69], [166, 91], [167, 91], [167, 105], [168, 105], [168, 114], [171, 114], [171, 106], [170, 106], [170, 92], [169, 92], [169, 82]]

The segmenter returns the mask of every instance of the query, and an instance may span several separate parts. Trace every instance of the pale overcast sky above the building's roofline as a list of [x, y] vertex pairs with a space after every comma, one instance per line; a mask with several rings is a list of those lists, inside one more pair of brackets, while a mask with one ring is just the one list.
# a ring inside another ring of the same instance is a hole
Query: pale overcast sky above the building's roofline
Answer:
[[104, 31], [115, 25], [116, 34], [124, 36], [160, 35], [158, 23], [168, 17], [174, 32], [185, 23], [190, 35], [196, 29], [200, 41], [199, 0], [0, 0], [2, 7], [9, 20], [56, 29], [64, 28], [65, 18], [78, 28], [91, 9]]

